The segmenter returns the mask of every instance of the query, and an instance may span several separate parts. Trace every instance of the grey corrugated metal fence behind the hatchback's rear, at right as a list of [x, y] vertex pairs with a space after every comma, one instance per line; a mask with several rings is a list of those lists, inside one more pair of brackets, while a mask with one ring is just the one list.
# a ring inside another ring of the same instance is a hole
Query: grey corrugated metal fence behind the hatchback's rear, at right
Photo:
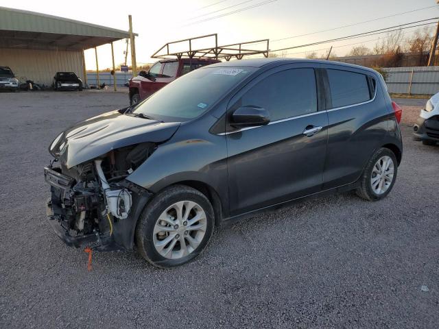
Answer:
[[391, 67], [385, 80], [389, 93], [431, 95], [439, 92], [439, 66]]

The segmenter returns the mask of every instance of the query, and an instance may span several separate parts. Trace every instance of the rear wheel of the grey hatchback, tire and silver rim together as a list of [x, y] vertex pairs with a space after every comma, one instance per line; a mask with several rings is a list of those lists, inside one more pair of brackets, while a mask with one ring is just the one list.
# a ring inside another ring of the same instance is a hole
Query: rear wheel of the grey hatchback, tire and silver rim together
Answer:
[[370, 158], [363, 175], [357, 195], [369, 201], [377, 201], [386, 197], [392, 191], [398, 162], [390, 149], [381, 148]]

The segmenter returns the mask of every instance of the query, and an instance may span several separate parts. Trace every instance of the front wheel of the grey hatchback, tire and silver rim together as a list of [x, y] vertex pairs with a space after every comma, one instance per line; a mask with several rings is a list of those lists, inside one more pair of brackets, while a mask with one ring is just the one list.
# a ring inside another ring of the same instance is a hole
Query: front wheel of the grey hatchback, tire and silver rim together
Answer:
[[176, 267], [206, 247], [214, 226], [209, 199], [189, 186], [165, 188], [143, 210], [136, 243], [143, 258], [156, 267]]

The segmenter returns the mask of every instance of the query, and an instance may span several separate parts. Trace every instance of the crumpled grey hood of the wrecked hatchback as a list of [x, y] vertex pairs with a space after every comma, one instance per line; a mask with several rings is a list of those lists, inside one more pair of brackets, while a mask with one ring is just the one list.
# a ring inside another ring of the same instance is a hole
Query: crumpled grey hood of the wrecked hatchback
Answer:
[[49, 152], [67, 168], [92, 160], [112, 149], [171, 138], [179, 122], [142, 119], [118, 111], [104, 113], [73, 125], [49, 146]]

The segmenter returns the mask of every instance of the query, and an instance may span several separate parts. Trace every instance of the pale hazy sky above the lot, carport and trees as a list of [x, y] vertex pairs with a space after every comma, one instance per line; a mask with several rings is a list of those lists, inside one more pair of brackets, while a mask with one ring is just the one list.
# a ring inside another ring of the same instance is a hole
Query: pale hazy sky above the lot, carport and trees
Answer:
[[[155, 62], [150, 56], [166, 42], [205, 34], [217, 33], [219, 45], [268, 38], [270, 49], [281, 49], [439, 16], [436, 0], [148, 0], [130, 3], [132, 5], [116, 1], [0, 0], [0, 5], [4, 7], [42, 12], [125, 31], [128, 31], [128, 14], [132, 14], [133, 30], [139, 34], [136, 38], [138, 65]], [[248, 8], [252, 6], [254, 8]], [[434, 8], [335, 29], [431, 6]], [[234, 11], [238, 12], [228, 14]], [[220, 15], [224, 16], [211, 19]], [[204, 21], [206, 19], [209, 20]], [[429, 26], [431, 30], [434, 29], [434, 25]], [[313, 33], [327, 29], [333, 30]], [[410, 36], [415, 29], [406, 29], [405, 36]], [[303, 34], [308, 35], [300, 36]], [[291, 36], [299, 37], [289, 38]], [[320, 56], [332, 45], [337, 56], [344, 56], [361, 43], [372, 48], [379, 37], [383, 38], [385, 34], [292, 49], [284, 53], [287, 57], [301, 58], [317, 50]], [[281, 38], [288, 39], [277, 40]], [[125, 47], [124, 40], [115, 42], [116, 63], [124, 62]], [[97, 52], [99, 69], [110, 67], [110, 45], [98, 47]], [[95, 51], [89, 49], [85, 55], [86, 68], [95, 69]], [[129, 54], [128, 64], [130, 62]]]

